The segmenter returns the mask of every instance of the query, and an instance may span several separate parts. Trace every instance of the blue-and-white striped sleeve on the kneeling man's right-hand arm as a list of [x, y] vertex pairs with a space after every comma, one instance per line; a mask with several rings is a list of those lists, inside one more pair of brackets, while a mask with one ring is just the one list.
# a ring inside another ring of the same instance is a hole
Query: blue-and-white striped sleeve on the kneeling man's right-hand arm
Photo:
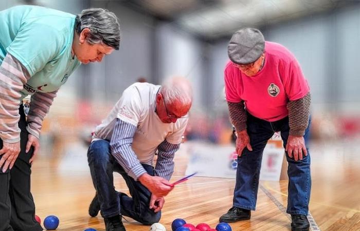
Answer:
[[166, 140], [157, 147], [157, 161], [155, 165], [155, 176], [170, 180], [174, 172], [174, 154], [179, 149], [180, 144], [171, 144]]

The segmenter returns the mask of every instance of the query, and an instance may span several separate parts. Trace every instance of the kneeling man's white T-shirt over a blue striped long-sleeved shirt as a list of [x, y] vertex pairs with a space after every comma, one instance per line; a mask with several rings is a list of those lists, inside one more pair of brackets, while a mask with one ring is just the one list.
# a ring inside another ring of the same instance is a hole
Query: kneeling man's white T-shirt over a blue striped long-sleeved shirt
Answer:
[[110, 140], [112, 154], [135, 180], [146, 172], [141, 164], [153, 165], [155, 152], [156, 176], [170, 179], [174, 153], [188, 122], [184, 118], [168, 124], [159, 119], [155, 112], [159, 88], [149, 83], [131, 85], [94, 131], [93, 141]]

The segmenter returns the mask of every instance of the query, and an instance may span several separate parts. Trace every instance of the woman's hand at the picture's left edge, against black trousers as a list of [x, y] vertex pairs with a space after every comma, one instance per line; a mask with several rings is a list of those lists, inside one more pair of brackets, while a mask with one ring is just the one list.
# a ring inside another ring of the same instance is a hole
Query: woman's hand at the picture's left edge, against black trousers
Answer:
[[[20, 153], [20, 141], [17, 143], [6, 143], [3, 142], [3, 148], [0, 150], [0, 168], [3, 167], [3, 172], [14, 166], [16, 158]], [[4, 165], [4, 166], [3, 166]]]

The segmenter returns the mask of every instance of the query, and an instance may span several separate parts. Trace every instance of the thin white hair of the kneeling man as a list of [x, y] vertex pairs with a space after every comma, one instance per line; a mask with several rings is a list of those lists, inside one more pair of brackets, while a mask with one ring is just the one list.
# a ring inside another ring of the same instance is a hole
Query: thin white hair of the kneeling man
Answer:
[[182, 105], [192, 103], [192, 87], [189, 80], [183, 77], [172, 77], [167, 79], [160, 88], [165, 103], [172, 104], [179, 101]]

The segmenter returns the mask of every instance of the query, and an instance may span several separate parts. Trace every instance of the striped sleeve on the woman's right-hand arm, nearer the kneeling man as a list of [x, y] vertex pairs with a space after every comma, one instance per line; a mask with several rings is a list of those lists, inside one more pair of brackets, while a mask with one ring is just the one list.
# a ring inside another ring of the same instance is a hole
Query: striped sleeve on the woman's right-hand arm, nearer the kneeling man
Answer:
[[49, 108], [57, 92], [58, 90], [52, 92], [36, 92], [31, 96], [26, 130], [37, 138], [40, 136], [45, 115], [49, 112]]

